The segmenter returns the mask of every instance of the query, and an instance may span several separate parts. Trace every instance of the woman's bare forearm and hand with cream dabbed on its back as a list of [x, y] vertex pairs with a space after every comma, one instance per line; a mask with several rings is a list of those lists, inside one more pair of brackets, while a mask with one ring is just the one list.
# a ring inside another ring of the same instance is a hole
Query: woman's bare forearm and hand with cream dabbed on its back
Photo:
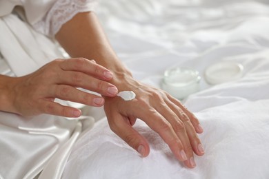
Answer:
[[111, 83], [122, 90], [132, 90], [137, 97], [132, 101], [106, 97], [105, 111], [112, 131], [148, 156], [149, 145], [132, 125], [140, 118], [169, 145], [178, 160], [188, 167], [195, 167], [193, 153], [202, 156], [203, 147], [197, 133], [203, 129], [199, 121], [179, 101], [166, 92], [141, 84], [119, 61], [112, 50], [101, 25], [93, 12], [83, 12], [65, 23], [56, 39], [71, 56], [94, 59], [113, 72]]

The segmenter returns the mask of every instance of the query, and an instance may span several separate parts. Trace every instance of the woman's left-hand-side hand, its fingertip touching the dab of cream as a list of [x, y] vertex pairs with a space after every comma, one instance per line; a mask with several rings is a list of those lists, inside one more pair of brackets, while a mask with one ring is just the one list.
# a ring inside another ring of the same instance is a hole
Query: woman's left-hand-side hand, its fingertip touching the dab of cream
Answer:
[[12, 109], [9, 112], [23, 116], [45, 113], [79, 117], [79, 109], [60, 105], [54, 99], [100, 107], [104, 103], [103, 97], [82, 92], [77, 87], [103, 96], [115, 96], [117, 87], [108, 83], [111, 79], [112, 73], [95, 61], [82, 58], [54, 60], [32, 74], [12, 78], [9, 94]]

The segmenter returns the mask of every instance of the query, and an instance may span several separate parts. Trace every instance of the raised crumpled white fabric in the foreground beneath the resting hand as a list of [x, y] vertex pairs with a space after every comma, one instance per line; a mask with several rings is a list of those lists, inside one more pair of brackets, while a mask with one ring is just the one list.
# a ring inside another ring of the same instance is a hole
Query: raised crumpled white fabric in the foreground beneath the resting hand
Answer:
[[268, 178], [268, 104], [268, 99], [243, 100], [197, 112], [206, 154], [195, 157], [195, 169], [177, 161], [163, 140], [139, 121], [135, 129], [150, 143], [150, 155], [141, 158], [110, 131], [105, 118], [75, 145], [63, 178]]

